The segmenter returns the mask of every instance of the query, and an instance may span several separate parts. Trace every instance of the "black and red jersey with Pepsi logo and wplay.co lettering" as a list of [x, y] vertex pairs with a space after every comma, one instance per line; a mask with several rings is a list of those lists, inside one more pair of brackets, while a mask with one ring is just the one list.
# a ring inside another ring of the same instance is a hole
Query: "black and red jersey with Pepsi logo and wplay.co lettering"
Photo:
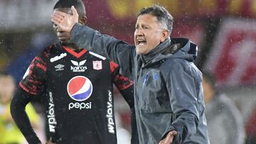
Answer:
[[31, 62], [19, 86], [46, 93], [48, 125], [57, 143], [117, 143], [112, 83], [119, 90], [133, 82], [119, 66], [85, 49], [51, 45]]

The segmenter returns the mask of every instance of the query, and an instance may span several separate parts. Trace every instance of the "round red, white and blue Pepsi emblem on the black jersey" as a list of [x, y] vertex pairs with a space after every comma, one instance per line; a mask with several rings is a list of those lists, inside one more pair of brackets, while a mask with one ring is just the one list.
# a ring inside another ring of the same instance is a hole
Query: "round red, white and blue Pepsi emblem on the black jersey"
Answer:
[[92, 94], [92, 82], [87, 77], [76, 76], [68, 82], [67, 90], [71, 99], [85, 101]]

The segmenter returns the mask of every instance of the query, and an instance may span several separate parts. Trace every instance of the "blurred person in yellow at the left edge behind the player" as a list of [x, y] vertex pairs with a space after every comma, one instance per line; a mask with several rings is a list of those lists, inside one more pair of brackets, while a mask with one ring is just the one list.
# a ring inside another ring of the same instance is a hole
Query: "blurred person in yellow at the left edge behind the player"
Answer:
[[[22, 133], [18, 130], [16, 123], [11, 118], [10, 104], [14, 96], [14, 78], [6, 72], [0, 73], [0, 143], [20, 144], [24, 143]], [[31, 124], [38, 131], [39, 116], [31, 104], [26, 106], [26, 113], [31, 120]]]

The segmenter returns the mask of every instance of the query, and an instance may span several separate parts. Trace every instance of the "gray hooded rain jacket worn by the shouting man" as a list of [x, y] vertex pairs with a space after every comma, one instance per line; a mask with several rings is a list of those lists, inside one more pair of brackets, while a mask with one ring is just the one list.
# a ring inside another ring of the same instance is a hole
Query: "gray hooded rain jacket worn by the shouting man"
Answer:
[[147, 55], [134, 45], [75, 24], [71, 41], [110, 57], [121, 74], [134, 79], [139, 143], [159, 143], [176, 130], [175, 143], [208, 144], [202, 74], [193, 64], [197, 46], [188, 39], [167, 39]]

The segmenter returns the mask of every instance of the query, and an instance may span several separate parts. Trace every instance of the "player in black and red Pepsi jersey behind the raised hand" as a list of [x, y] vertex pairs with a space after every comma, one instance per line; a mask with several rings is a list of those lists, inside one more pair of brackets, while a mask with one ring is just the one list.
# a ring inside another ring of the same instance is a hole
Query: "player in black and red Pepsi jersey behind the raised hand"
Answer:
[[[85, 25], [81, 0], [60, 0], [53, 11], [71, 15], [70, 6], [78, 9], [79, 23]], [[47, 143], [117, 143], [112, 83], [132, 107], [133, 82], [119, 74], [116, 63], [70, 43], [70, 34], [54, 23], [53, 29], [59, 42], [33, 59], [11, 101], [18, 128], [28, 143], [41, 143], [23, 111], [34, 96], [41, 96], [48, 99]]]

